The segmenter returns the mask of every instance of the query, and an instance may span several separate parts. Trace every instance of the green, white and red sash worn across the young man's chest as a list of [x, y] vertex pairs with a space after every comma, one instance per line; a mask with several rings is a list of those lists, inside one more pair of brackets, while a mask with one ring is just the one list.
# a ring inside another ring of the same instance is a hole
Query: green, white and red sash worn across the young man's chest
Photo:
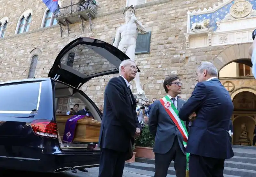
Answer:
[[[188, 131], [184, 121], [180, 120], [179, 118], [179, 111], [177, 110], [175, 105], [172, 104], [172, 101], [168, 96], [164, 96], [162, 99], [160, 99], [160, 102], [164, 106], [164, 109], [167, 112], [167, 114], [175, 123], [176, 127], [179, 129], [183, 137], [183, 145], [186, 148], [187, 142], [188, 142]], [[189, 173], [188, 173], [189, 172], [189, 153], [186, 153], [186, 157], [187, 157], [186, 177], [189, 177]]]

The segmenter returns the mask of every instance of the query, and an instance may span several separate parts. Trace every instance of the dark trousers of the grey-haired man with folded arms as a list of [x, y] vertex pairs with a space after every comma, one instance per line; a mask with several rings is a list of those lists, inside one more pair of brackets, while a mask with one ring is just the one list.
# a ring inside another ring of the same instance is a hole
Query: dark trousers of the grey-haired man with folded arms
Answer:
[[189, 177], [223, 177], [224, 161], [190, 154]]

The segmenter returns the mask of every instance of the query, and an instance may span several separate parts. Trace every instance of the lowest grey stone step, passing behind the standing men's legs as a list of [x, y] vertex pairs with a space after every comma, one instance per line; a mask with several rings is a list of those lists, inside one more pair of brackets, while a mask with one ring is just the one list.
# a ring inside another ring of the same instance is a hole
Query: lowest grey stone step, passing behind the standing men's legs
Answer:
[[[140, 162], [125, 164], [125, 167], [136, 168], [136, 169], [152, 171], [152, 172], [154, 172], [155, 170], [154, 164], [147, 164], [147, 163], [140, 163]], [[235, 175], [239, 177], [255, 177], [256, 176], [255, 170], [238, 169], [238, 168], [231, 168], [231, 167], [224, 167], [223, 173], [225, 175]], [[168, 168], [168, 174], [175, 175], [174, 167], [170, 166]]]

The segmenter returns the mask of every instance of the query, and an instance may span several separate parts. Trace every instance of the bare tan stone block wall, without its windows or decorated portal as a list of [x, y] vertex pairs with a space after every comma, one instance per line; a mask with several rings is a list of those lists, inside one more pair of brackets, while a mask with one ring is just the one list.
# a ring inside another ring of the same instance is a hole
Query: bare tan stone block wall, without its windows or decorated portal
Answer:
[[[185, 47], [184, 33], [187, 32], [188, 10], [204, 9], [217, 4], [218, 1], [150, 0], [136, 7], [137, 18], [147, 30], [152, 32], [150, 53], [136, 55], [136, 62], [141, 70], [141, 85], [149, 98], [159, 98], [165, 94], [163, 80], [170, 73], [177, 73], [180, 76], [183, 82], [181, 97], [188, 98], [194, 89], [196, 68], [202, 61], [213, 61], [219, 69], [228, 63], [229, 60], [220, 55], [230, 47], [228, 45], [196, 49]], [[88, 21], [85, 23], [84, 33], [81, 23], [75, 23], [69, 25], [70, 35], [65, 26], [61, 37], [58, 25], [40, 28], [46, 9], [42, 1], [17, 0], [14, 3], [10, 3], [9, 0], [1, 1], [0, 18], [7, 16], [9, 23], [5, 37], [0, 39], [0, 81], [27, 78], [31, 58], [35, 54], [39, 55], [35, 77], [46, 77], [60, 50], [78, 37], [97, 38], [112, 44], [116, 28], [124, 24], [122, 9], [125, 0], [98, 0], [97, 3], [99, 9], [96, 18], [92, 19], [92, 31]], [[69, 5], [70, 1], [63, 0], [61, 4], [63, 7]], [[33, 10], [29, 31], [14, 35], [18, 19], [27, 8]], [[90, 69], [96, 66], [93, 63], [102, 61], [93, 59], [90, 65], [83, 63], [82, 60], [79, 61], [82, 63], [76, 62], [78, 62], [77, 55], [75, 67], [89, 74]], [[94, 78], [81, 89], [96, 104], [102, 104], [104, 88], [112, 77], [108, 75]], [[136, 92], [134, 86], [133, 91]]]

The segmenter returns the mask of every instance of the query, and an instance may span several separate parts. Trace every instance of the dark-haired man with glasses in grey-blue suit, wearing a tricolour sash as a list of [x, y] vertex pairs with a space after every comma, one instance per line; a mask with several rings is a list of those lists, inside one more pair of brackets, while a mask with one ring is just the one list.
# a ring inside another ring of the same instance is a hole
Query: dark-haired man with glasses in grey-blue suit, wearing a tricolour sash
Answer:
[[[173, 120], [173, 116], [169, 114], [170, 112], [166, 111], [168, 109], [166, 105], [173, 104], [175, 106], [174, 109], [178, 112], [185, 103], [184, 100], [178, 98], [178, 94], [181, 93], [181, 85], [182, 83], [176, 74], [166, 77], [164, 90], [167, 96], [156, 100], [150, 110], [148, 126], [150, 133], [155, 136], [153, 149], [155, 152], [155, 177], [166, 177], [172, 160], [174, 161], [176, 176], [186, 176], [184, 137], [175, 124], [176, 120]], [[171, 101], [164, 104], [163, 100]], [[172, 108], [169, 106], [169, 109]]]

